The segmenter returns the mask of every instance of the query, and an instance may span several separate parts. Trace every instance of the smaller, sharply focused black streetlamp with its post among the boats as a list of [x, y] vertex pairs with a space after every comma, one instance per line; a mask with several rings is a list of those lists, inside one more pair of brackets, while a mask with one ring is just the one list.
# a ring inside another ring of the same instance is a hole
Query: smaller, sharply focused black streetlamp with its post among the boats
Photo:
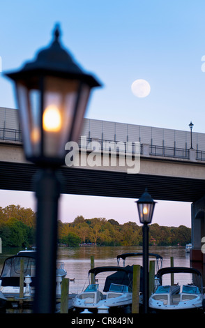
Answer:
[[139, 221], [143, 224], [143, 308], [148, 313], [149, 308], [149, 223], [152, 221], [155, 202], [145, 189], [137, 202]]

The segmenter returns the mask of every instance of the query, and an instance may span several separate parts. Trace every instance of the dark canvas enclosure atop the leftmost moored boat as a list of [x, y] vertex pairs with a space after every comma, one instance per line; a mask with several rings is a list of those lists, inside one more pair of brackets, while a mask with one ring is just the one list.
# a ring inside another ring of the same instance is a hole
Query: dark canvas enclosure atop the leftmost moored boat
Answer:
[[31, 277], [35, 276], [35, 260], [18, 256], [16, 258], [8, 258], [5, 261], [1, 277], [19, 277], [21, 260], [24, 261], [24, 276], [28, 274]]

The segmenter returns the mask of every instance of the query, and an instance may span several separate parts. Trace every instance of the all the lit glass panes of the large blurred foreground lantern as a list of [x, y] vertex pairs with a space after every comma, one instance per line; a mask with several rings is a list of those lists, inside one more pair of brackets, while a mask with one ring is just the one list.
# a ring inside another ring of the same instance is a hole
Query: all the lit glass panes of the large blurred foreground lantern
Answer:
[[79, 141], [90, 88], [79, 80], [52, 76], [43, 77], [43, 90], [38, 85], [36, 80], [17, 82], [26, 158], [36, 163], [39, 158], [63, 160], [66, 143]]

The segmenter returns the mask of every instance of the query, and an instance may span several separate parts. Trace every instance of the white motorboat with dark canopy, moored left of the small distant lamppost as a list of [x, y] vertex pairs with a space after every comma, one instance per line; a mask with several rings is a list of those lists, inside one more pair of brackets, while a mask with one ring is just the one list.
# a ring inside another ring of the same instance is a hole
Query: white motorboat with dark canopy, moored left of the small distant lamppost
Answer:
[[[98, 312], [98, 308], [109, 308], [109, 313], [119, 308], [125, 308], [132, 304], [132, 267], [96, 267], [89, 270], [96, 277], [100, 272], [115, 271], [114, 274], [107, 276], [103, 294], [99, 290], [99, 284], [91, 283], [81, 293], [73, 299], [73, 306], [76, 311]], [[90, 280], [90, 279], [89, 279]]]

